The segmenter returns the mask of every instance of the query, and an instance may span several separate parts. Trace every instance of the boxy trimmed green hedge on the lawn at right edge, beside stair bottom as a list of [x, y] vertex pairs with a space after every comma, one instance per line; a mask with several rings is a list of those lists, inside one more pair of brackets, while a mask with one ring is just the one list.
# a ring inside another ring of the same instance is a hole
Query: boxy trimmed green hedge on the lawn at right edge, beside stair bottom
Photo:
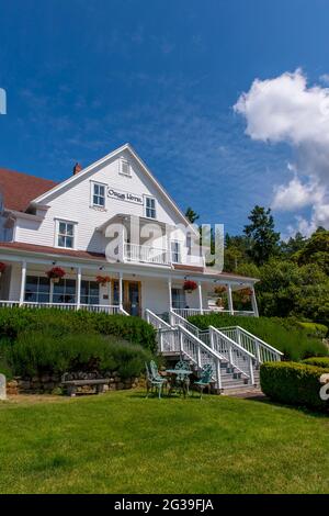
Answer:
[[324, 372], [329, 373], [329, 369], [295, 362], [266, 362], [260, 368], [261, 389], [273, 401], [325, 411], [329, 404], [319, 395], [319, 379]]

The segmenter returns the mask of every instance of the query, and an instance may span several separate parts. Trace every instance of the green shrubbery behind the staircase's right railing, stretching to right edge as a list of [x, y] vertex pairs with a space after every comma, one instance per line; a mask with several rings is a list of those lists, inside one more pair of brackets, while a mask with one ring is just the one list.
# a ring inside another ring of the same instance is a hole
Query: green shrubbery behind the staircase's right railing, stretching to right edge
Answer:
[[213, 313], [193, 315], [189, 317], [189, 321], [201, 329], [206, 329], [209, 325], [217, 328], [241, 326], [282, 351], [285, 360], [299, 361], [308, 357], [328, 355], [328, 349], [320, 339], [308, 337], [305, 329], [295, 327], [284, 318], [242, 317]]

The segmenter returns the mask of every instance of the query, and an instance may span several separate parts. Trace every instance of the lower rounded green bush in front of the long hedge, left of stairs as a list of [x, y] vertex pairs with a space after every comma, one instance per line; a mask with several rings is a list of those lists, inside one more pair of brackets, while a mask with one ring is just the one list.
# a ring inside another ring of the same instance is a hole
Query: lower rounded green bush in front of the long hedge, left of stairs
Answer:
[[24, 332], [4, 347], [4, 357], [15, 375], [34, 377], [66, 371], [117, 371], [122, 378], [139, 375], [149, 350], [113, 336]]

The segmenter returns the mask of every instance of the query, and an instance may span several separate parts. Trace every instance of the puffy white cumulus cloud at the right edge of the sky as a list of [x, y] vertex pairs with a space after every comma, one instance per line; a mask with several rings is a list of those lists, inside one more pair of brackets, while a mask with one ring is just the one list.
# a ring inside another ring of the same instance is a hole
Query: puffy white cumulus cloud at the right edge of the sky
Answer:
[[[325, 83], [325, 76], [322, 78]], [[300, 69], [274, 79], [256, 79], [234, 106], [246, 119], [246, 134], [266, 143], [287, 143], [296, 162], [286, 184], [274, 188], [273, 207], [311, 206], [311, 218], [297, 216], [297, 228], [309, 234], [329, 227], [329, 89], [307, 85]]]

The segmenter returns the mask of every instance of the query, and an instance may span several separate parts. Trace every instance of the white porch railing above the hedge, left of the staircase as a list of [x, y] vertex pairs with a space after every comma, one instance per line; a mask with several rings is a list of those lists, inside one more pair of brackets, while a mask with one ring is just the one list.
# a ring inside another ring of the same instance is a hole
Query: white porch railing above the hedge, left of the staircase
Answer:
[[63, 311], [84, 310], [87, 312], [106, 313], [106, 314], [123, 314], [129, 315], [125, 310], [118, 305], [102, 305], [102, 304], [76, 304], [76, 303], [38, 303], [36, 301], [0, 301], [0, 309], [3, 307], [22, 307], [22, 309], [56, 309]]

